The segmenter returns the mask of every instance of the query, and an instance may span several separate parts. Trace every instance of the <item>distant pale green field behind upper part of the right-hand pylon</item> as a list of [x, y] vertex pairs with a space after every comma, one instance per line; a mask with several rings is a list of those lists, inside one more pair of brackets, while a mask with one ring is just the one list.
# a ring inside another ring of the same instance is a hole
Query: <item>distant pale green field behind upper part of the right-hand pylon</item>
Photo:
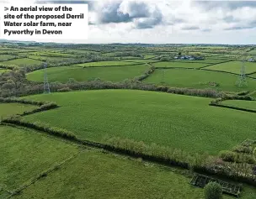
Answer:
[[[244, 62], [244, 65], [245, 65], [246, 73], [251, 73], [251, 72], [256, 71], [256, 63]], [[227, 71], [227, 72], [240, 74], [241, 67], [242, 67], [241, 61], [231, 61], [231, 62], [227, 62], [227, 63], [223, 63], [223, 64], [211, 65], [209, 67], [206, 67], [205, 69], [211, 69], [211, 70], [216, 70], [216, 71]]]

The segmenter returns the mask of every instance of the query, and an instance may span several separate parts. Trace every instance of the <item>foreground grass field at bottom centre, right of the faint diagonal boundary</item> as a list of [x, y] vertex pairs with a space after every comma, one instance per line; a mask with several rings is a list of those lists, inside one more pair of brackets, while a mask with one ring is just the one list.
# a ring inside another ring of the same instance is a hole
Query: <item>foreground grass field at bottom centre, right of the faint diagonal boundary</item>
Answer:
[[[172, 187], [170, 189], [170, 187]], [[87, 151], [29, 186], [17, 199], [27, 198], [203, 198], [203, 189], [171, 170]]]

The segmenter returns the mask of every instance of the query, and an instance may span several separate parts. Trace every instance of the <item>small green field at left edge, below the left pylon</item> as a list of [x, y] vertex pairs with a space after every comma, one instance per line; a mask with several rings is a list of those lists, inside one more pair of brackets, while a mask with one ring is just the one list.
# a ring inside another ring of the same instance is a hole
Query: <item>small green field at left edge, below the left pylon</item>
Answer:
[[35, 106], [23, 103], [0, 103], [0, 118], [7, 118], [13, 114], [33, 110]]

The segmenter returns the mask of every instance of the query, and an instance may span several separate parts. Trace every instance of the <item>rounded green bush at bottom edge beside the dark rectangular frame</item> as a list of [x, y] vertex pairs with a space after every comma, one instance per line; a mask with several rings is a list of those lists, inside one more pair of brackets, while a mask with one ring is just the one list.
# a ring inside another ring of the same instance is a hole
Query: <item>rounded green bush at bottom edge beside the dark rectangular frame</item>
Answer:
[[210, 182], [205, 186], [205, 199], [221, 199], [222, 187], [216, 182]]

